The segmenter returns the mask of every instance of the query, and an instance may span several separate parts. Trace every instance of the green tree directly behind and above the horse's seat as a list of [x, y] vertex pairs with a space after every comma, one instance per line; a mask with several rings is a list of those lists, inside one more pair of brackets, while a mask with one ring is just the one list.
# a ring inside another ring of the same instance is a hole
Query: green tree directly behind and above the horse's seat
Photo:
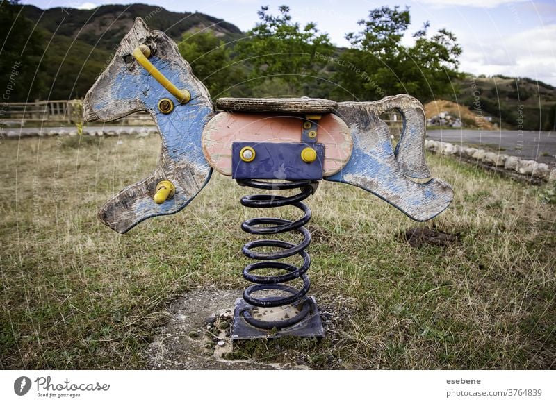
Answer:
[[269, 89], [299, 94], [315, 85], [326, 64], [322, 56], [332, 53], [326, 33], [312, 22], [303, 27], [292, 22], [289, 12], [288, 6], [280, 6], [279, 15], [271, 15], [268, 7], [261, 7], [260, 21], [234, 49], [236, 58], [250, 67], [250, 87], [258, 95], [271, 95], [265, 94]]

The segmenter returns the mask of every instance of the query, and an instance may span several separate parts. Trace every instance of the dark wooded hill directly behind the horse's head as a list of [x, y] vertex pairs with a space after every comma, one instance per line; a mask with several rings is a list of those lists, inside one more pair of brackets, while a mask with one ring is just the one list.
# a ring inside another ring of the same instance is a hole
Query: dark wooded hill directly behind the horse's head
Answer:
[[37, 25], [45, 42], [44, 58], [39, 66], [44, 74], [40, 76], [37, 94], [31, 99], [83, 97], [111, 60], [115, 47], [133, 26], [136, 17], [145, 19], [152, 28], [165, 31], [177, 42], [183, 33], [204, 28], [224, 41], [242, 35], [238, 27], [222, 19], [197, 12], [171, 12], [146, 4], [109, 5], [94, 10], [17, 7], [22, 8], [22, 15], [33, 25]]

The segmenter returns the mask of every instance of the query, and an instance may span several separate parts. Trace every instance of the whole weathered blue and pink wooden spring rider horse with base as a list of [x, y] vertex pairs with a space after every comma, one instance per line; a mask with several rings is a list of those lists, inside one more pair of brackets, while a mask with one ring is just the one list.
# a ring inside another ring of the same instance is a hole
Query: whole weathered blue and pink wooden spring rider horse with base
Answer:
[[[176, 44], [140, 18], [85, 96], [84, 106], [86, 121], [113, 121], [147, 111], [162, 137], [154, 172], [124, 188], [99, 211], [99, 219], [119, 233], [149, 217], [179, 212], [206, 185], [213, 169], [240, 185], [300, 191], [293, 196], [241, 199], [242, 205], [252, 208], [299, 208], [300, 219], [248, 219], [241, 228], [255, 235], [295, 230], [303, 241], [259, 239], [243, 246], [243, 254], [259, 262], [243, 269], [243, 277], [254, 285], [236, 301], [232, 339], [324, 335], [315, 298], [306, 296], [311, 259], [305, 249], [311, 234], [304, 225], [311, 210], [302, 203], [316, 191], [319, 180], [361, 187], [416, 221], [432, 219], [453, 198], [450, 185], [430, 178], [423, 151], [425, 113], [413, 97], [400, 94], [376, 102], [341, 103], [221, 98], [216, 112], [206, 87], [193, 76]], [[380, 119], [392, 109], [403, 118], [395, 149], [389, 128]], [[302, 258], [300, 266], [279, 261], [296, 254]], [[280, 274], [265, 276], [264, 269]], [[297, 278], [302, 287], [284, 285]]]

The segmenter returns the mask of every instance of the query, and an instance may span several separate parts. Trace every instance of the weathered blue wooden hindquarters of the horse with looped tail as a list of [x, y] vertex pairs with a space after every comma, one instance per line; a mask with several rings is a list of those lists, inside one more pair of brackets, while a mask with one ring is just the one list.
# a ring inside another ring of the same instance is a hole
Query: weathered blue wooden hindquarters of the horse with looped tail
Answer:
[[[392, 149], [389, 128], [379, 118], [391, 108], [399, 108], [405, 117], [404, 135], [396, 153]], [[417, 221], [432, 219], [448, 208], [453, 199], [448, 183], [438, 178], [416, 183], [407, 178], [423, 178], [429, 172], [423, 154], [422, 108], [416, 99], [406, 95], [376, 102], [339, 103], [336, 114], [350, 126], [353, 151], [345, 167], [325, 179], [357, 185]]]

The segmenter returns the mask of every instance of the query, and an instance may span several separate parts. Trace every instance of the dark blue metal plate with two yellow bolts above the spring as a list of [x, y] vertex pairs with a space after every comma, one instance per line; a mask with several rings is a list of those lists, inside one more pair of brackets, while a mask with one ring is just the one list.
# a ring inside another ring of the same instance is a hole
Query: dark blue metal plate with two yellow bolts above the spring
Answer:
[[[252, 162], [240, 158], [245, 146], [255, 150]], [[301, 152], [312, 147], [317, 153], [315, 161], [307, 163], [301, 159]], [[234, 142], [231, 145], [231, 177], [261, 180], [321, 180], [325, 145], [322, 143], [257, 143]]]

